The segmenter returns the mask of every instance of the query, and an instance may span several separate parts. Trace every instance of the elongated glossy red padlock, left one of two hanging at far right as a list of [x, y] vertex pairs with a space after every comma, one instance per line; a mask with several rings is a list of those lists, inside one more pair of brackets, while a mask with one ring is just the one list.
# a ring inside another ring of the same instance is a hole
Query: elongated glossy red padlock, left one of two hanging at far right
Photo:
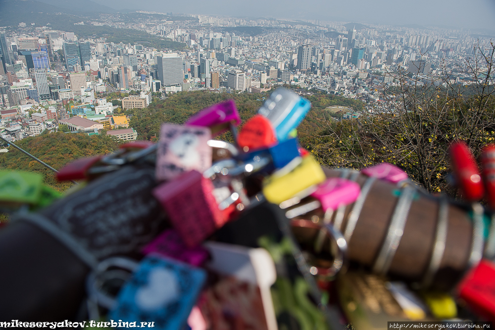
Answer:
[[481, 182], [478, 165], [467, 144], [463, 141], [456, 141], [450, 145], [448, 151], [455, 180], [464, 198], [469, 202], [482, 199], [485, 189]]

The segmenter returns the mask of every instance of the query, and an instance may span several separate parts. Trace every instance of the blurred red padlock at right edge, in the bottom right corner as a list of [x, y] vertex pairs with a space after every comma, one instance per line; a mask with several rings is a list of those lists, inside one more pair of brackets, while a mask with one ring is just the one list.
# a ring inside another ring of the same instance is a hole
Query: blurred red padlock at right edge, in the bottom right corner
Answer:
[[473, 312], [489, 321], [495, 321], [495, 264], [493, 262], [482, 260], [461, 280], [457, 292]]

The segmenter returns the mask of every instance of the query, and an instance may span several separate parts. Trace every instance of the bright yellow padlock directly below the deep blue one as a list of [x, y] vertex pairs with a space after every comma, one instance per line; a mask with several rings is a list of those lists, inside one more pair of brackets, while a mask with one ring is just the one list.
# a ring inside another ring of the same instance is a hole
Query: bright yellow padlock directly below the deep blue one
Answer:
[[268, 202], [280, 204], [325, 179], [323, 169], [312, 156], [307, 155], [302, 159], [297, 157], [265, 179], [263, 195]]

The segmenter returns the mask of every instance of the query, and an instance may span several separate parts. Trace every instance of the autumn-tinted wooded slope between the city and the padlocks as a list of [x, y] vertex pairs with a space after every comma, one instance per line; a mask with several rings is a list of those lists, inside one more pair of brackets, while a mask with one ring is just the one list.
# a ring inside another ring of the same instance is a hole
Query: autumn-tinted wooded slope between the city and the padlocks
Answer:
[[[130, 126], [137, 130], [138, 139], [157, 141], [161, 123], [182, 124], [199, 110], [227, 99], [235, 100], [242, 118], [242, 124], [244, 124], [256, 114], [264, 99], [268, 96], [269, 93], [219, 94], [209, 91], [182, 92], [174, 94], [165, 100], [155, 98], [147, 109], [120, 110], [120, 112], [131, 116]], [[313, 145], [317, 143], [317, 136], [327, 126], [323, 109], [336, 104], [353, 106], [356, 109], [360, 109], [362, 106], [359, 101], [323, 94], [312, 95], [309, 100], [312, 103], [312, 109], [298, 128], [301, 145], [309, 150], [313, 149]], [[232, 141], [230, 132], [218, 138]], [[118, 143], [104, 134], [88, 136], [86, 134], [62, 132], [28, 137], [17, 141], [16, 144], [56, 169], [73, 160], [111, 153], [118, 148]], [[51, 170], [13, 147], [8, 149], [8, 153], [0, 154], [0, 168], [42, 173], [45, 175], [45, 182], [59, 191], [64, 191], [72, 185], [71, 183], [57, 183]]]

